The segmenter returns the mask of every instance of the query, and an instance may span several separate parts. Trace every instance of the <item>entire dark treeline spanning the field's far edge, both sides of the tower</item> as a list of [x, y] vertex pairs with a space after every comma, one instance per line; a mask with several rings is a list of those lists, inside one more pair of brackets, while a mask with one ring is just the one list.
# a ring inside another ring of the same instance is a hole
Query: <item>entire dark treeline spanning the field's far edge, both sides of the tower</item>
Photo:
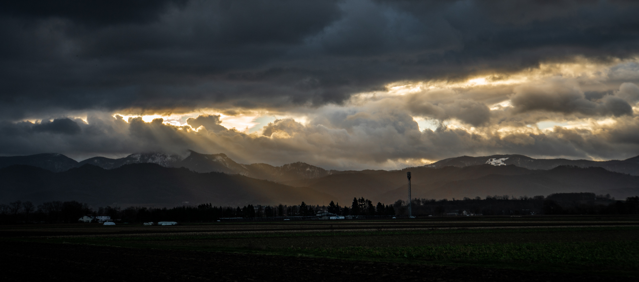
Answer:
[[[217, 207], [210, 203], [197, 206], [173, 208], [148, 207], [100, 207], [97, 210], [78, 201], [49, 201], [35, 206], [30, 201], [14, 201], [0, 205], [0, 223], [77, 223], [84, 215], [110, 216], [121, 223], [143, 223], [158, 221], [211, 222], [220, 218], [293, 217], [314, 216], [328, 211], [335, 215], [407, 215], [405, 201], [397, 200], [392, 205], [371, 200], [353, 198], [350, 206], [341, 207], [331, 201], [325, 205], [246, 205], [244, 207]], [[531, 214], [639, 214], [639, 196], [616, 201], [610, 195], [594, 193], [557, 193], [548, 197], [486, 196], [481, 199], [462, 200], [412, 200], [413, 215], [531, 215]]]

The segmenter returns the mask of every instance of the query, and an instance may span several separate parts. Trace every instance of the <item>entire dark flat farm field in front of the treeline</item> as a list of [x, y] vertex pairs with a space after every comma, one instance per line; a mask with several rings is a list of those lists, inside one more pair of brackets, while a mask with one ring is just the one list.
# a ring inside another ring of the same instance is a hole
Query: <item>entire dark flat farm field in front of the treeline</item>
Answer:
[[633, 281], [639, 274], [639, 217], [631, 216], [42, 224], [4, 226], [0, 239], [0, 278], [20, 281]]

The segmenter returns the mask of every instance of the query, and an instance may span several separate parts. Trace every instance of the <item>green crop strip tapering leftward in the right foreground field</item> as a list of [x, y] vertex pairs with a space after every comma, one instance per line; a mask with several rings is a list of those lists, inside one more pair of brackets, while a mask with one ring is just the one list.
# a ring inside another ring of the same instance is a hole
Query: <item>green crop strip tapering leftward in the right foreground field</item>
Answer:
[[571, 242], [524, 244], [465, 244], [420, 247], [316, 247], [282, 249], [335, 258], [405, 258], [448, 262], [520, 262], [569, 265], [617, 265], [639, 269], [639, 242]]

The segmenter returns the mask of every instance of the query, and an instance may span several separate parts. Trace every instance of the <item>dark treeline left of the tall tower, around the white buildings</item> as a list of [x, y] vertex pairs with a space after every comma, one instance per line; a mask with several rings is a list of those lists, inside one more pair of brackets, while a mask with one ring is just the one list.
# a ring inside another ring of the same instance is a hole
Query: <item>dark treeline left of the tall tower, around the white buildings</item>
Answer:
[[217, 207], [211, 203], [197, 206], [181, 206], [173, 208], [148, 208], [148, 207], [100, 207], [97, 210], [86, 203], [78, 201], [50, 201], [33, 205], [30, 201], [15, 201], [9, 205], [0, 205], [0, 223], [77, 223], [78, 220], [88, 215], [109, 216], [113, 221], [121, 223], [145, 223], [158, 221], [176, 222], [211, 222], [220, 218], [233, 217], [293, 217], [314, 216], [318, 212], [328, 211], [337, 215], [394, 215], [394, 207], [377, 203], [373, 205], [370, 200], [360, 198], [353, 199], [350, 207], [339, 207], [333, 201], [328, 206], [307, 205], [246, 205], [244, 207]]

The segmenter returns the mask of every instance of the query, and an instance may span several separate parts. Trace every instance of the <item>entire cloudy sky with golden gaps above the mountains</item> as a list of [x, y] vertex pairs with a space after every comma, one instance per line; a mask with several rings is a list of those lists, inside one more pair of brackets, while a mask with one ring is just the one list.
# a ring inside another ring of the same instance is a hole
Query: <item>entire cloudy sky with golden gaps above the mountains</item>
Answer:
[[91, 2], [0, 4], [0, 155], [639, 155], [636, 1]]

